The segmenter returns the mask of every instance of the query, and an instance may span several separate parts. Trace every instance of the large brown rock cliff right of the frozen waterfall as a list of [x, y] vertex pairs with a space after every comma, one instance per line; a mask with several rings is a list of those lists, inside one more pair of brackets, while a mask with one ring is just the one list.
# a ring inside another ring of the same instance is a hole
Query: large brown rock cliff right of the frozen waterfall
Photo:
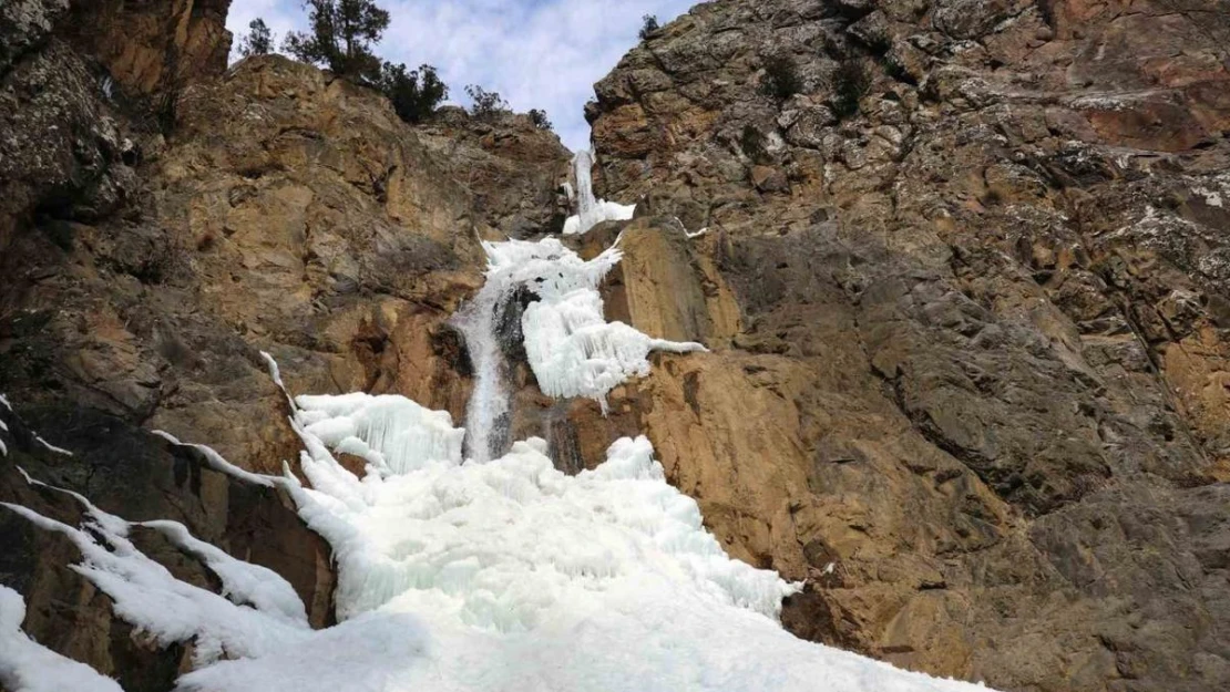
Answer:
[[1005, 690], [1230, 685], [1228, 11], [720, 0], [599, 82], [599, 192], [656, 236], [609, 312], [713, 350], [611, 420], [808, 580], [796, 633]]

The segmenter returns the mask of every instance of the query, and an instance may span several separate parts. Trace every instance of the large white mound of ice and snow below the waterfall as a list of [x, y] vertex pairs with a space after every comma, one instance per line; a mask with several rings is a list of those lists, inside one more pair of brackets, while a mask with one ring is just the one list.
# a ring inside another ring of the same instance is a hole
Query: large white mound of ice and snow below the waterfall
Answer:
[[576, 477], [530, 439], [490, 463], [415, 458], [358, 478], [309, 430], [321, 412], [359, 413], [330, 398], [296, 415], [312, 489], [294, 494], [335, 548], [341, 624], [183, 690], [982, 690], [782, 631], [797, 585], [728, 558], [645, 438]]

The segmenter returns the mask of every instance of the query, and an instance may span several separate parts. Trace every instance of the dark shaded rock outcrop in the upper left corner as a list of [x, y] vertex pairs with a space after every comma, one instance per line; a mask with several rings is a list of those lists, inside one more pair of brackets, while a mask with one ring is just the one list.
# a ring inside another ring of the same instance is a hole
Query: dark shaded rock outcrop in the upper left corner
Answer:
[[178, 92], [223, 73], [229, 6], [14, 0], [0, 7], [0, 251], [31, 216], [97, 218], [124, 200], [139, 157], [125, 135], [165, 130]]

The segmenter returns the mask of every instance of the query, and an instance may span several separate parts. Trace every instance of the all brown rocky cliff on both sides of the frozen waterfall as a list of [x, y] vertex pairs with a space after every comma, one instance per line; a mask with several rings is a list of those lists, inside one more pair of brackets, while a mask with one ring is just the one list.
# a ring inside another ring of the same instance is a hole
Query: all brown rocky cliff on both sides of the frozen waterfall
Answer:
[[[460, 419], [478, 240], [557, 231], [568, 152], [226, 70], [225, 11], [0, 9], [0, 500], [75, 519], [20, 466], [182, 521], [319, 627], [328, 551], [287, 498], [150, 430], [294, 463], [262, 350], [292, 391]], [[599, 192], [638, 218], [574, 245], [622, 234], [608, 317], [711, 353], [654, 356], [606, 415], [520, 354], [514, 436], [578, 470], [649, 435], [731, 554], [807, 580], [800, 637], [1002, 690], [1230, 686], [1228, 45], [1209, 0], [697, 6], [597, 85]], [[171, 687], [186, 651], [134, 639], [68, 542], [11, 514], [0, 540], [28, 633]]]

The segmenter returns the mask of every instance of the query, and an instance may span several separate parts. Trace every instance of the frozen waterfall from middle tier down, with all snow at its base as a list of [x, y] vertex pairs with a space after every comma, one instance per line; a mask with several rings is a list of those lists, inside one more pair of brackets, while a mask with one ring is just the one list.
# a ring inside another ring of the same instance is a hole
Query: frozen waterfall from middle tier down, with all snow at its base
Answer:
[[[589, 262], [554, 238], [485, 250], [487, 285], [458, 317], [480, 379], [467, 412], [472, 454], [446, 412], [401, 396], [292, 397], [268, 356], [310, 486], [289, 466], [255, 474], [193, 445], [219, 471], [282, 488], [328, 541], [338, 624], [310, 629], [282, 576], [178, 524], [141, 526], [200, 559], [221, 595], [177, 580], [129, 541], [133, 524], [79, 494], [69, 493], [85, 529], [4, 506], [73, 541], [82, 556], [74, 569], [149, 640], [194, 642], [182, 692], [985, 691], [785, 632], [781, 601], [800, 585], [731, 559], [643, 436], [615, 441], [604, 463], [576, 476], [556, 470], [538, 438], [492, 452], [508, 413], [499, 322], [519, 288], [538, 297], [522, 315], [526, 355], [557, 397], [603, 401], [648, 371], [649, 350], [702, 347], [603, 320], [598, 284], [617, 247]], [[338, 462], [342, 452], [367, 461], [362, 474]], [[0, 589], [0, 685], [114, 692], [109, 678], [25, 638], [21, 608]]]

